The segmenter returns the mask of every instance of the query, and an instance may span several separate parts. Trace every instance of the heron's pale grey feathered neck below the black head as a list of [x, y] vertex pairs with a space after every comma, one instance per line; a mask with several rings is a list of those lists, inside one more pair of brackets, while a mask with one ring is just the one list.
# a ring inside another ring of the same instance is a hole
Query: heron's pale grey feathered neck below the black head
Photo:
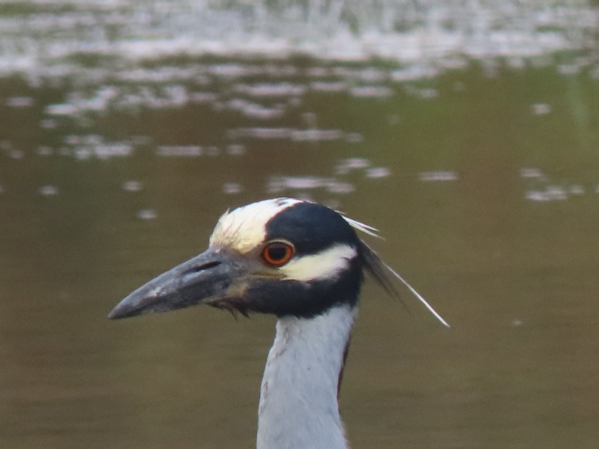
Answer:
[[257, 449], [346, 449], [337, 388], [357, 307], [281, 318], [268, 353]]

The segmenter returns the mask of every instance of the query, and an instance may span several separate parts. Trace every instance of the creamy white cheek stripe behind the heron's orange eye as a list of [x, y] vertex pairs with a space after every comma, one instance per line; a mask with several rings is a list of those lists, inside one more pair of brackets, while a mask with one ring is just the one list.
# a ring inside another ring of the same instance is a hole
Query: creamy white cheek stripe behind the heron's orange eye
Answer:
[[292, 259], [287, 265], [279, 268], [279, 271], [289, 280], [334, 279], [341, 271], [347, 269], [350, 260], [357, 255], [356, 248], [337, 244], [320, 253]]

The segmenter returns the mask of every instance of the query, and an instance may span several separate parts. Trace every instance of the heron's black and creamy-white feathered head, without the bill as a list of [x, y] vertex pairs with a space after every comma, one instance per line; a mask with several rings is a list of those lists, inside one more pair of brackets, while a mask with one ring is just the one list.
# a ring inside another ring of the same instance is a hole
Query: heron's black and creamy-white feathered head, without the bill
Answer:
[[[384, 266], [355, 228], [371, 230], [323, 205], [276, 198], [223, 214], [210, 245], [262, 258], [268, 270], [276, 271], [249, 284], [247, 301], [238, 305], [242, 313], [313, 317], [334, 305], [355, 305], [364, 269], [386, 288], [391, 286]], [[268, 263], [271, 255], [274, 264]]]

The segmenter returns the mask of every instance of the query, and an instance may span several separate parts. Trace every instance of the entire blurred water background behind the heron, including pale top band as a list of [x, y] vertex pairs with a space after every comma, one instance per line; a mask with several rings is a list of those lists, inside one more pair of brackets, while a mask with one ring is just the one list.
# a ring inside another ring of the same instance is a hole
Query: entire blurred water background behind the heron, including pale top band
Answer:
[[273, 317], [105, 315], [274, 196], [452, 324], [366, 286], [353, 448], [597, 447], [598, 8], [0, 1], [0, 447], [254, 447]]

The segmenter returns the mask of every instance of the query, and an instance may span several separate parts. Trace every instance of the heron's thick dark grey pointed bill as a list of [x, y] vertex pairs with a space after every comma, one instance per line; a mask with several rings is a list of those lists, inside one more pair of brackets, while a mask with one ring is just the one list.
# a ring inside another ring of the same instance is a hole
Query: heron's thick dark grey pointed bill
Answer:
[[244, 313], [244, 293], [256, 277], [273, 276], [251, 257], [210, 247], [144, 284], [117, 304], [108, 318], [127, 318], [208, 304]]

